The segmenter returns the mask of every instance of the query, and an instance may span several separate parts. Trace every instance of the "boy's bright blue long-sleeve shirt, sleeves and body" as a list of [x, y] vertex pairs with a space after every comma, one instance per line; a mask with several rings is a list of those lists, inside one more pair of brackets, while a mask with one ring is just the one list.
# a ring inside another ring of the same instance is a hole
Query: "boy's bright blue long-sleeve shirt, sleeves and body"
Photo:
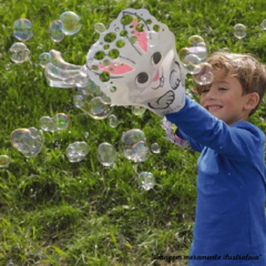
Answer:
[[246, 121], [228, 126], [191, 99], [185, 101], [166, 119], [201, 152], [188, 265], [265, 266], [265, 135]]

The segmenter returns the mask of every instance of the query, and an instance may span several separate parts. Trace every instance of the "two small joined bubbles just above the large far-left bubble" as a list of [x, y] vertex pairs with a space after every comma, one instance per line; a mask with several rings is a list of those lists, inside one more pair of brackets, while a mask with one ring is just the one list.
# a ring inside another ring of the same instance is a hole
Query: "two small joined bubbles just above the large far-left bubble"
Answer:
[[64, 113], [58, 113], [53, 117], [42, 116], [39, 124], [43, 131], [62, 131], [69, 126], [69, 116]]

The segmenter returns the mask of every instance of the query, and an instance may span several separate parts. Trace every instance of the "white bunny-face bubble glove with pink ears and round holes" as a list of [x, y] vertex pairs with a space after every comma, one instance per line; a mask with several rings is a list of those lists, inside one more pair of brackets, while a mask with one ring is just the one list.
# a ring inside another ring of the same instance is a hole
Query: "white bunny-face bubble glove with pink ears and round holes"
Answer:
[[145, 9], [122, 11], [91, 47], [86, 68], [112, 104], [155, 110], [171, 106], [186, 74], [174, 34]]

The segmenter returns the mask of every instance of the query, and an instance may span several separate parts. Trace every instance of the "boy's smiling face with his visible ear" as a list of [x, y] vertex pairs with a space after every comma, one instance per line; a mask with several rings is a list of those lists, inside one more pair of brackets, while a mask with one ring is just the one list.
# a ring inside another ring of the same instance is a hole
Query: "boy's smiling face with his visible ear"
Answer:
[[224, 75], [223, 70], [214, 71], [214, 76], [211, 86], [201, 94], [201, 105], [227, 125], [246, 121], [249, 111], [244, 106], [248, 94], [242, 95], [239, 81], [231, 74]]

